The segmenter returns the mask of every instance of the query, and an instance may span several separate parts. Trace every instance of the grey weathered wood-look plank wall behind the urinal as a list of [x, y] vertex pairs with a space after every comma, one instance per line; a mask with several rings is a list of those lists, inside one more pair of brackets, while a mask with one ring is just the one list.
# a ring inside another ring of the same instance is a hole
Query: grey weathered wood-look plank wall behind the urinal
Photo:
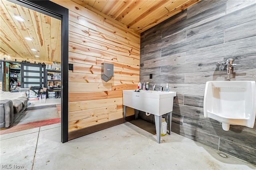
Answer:
[[[256, 164], [254, 128], [204, 118], [206, 81], [226, 80], [217, 62], [234, 58], [231, 80], [256, 80], [256, 1], [201, 1], [141, 34], [140, 82], [176, 91], [172, 131]], [[149, 74], [153, 78], [149, 79]], [[150, 85], [150, 88], [152, 86]], [[143, 119], [150, 119], [140, 114]], [[153, 120], [153, 119], [152, 119]]]

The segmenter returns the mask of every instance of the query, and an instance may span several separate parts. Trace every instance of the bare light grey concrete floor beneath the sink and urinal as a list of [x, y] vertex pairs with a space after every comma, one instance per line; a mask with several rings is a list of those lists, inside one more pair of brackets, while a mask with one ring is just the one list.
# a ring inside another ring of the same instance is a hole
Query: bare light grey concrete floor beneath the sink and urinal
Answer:
[[161, 137], [158, 144], [156, 135], [129, 122], [64, 144], [60, 123], [0, 135], [0, 140], [1, 168], [10, 164], [34, 170], [256, 169], [176, 133]]

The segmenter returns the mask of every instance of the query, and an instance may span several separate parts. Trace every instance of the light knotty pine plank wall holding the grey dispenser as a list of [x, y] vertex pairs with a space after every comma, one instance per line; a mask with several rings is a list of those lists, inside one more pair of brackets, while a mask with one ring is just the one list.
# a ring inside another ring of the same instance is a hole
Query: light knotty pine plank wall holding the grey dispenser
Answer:
[[[72, 1], [52, 1], [69, 9], [69, 134], [122, 118], [122, 90], [139, 82], [140, 35]], [[104, 62], [114, 64], [108, 82], [101, 79]]]

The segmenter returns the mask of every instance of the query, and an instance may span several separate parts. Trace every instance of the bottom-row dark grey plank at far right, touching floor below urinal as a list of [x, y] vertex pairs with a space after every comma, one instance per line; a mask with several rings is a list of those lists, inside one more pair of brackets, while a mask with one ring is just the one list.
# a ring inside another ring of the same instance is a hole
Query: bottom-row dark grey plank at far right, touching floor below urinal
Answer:
[[256, 165], [256, 149], [220, 139], [219, 150]]

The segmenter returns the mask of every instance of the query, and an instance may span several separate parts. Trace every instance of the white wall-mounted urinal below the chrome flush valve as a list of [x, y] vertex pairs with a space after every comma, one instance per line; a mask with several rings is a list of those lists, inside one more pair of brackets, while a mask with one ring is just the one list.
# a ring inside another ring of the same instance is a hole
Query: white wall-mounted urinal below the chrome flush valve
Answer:
[[230, 125], [254, 127], [256, 116], [255, 81], [210, 81], [204, 92], [204, 117]]

